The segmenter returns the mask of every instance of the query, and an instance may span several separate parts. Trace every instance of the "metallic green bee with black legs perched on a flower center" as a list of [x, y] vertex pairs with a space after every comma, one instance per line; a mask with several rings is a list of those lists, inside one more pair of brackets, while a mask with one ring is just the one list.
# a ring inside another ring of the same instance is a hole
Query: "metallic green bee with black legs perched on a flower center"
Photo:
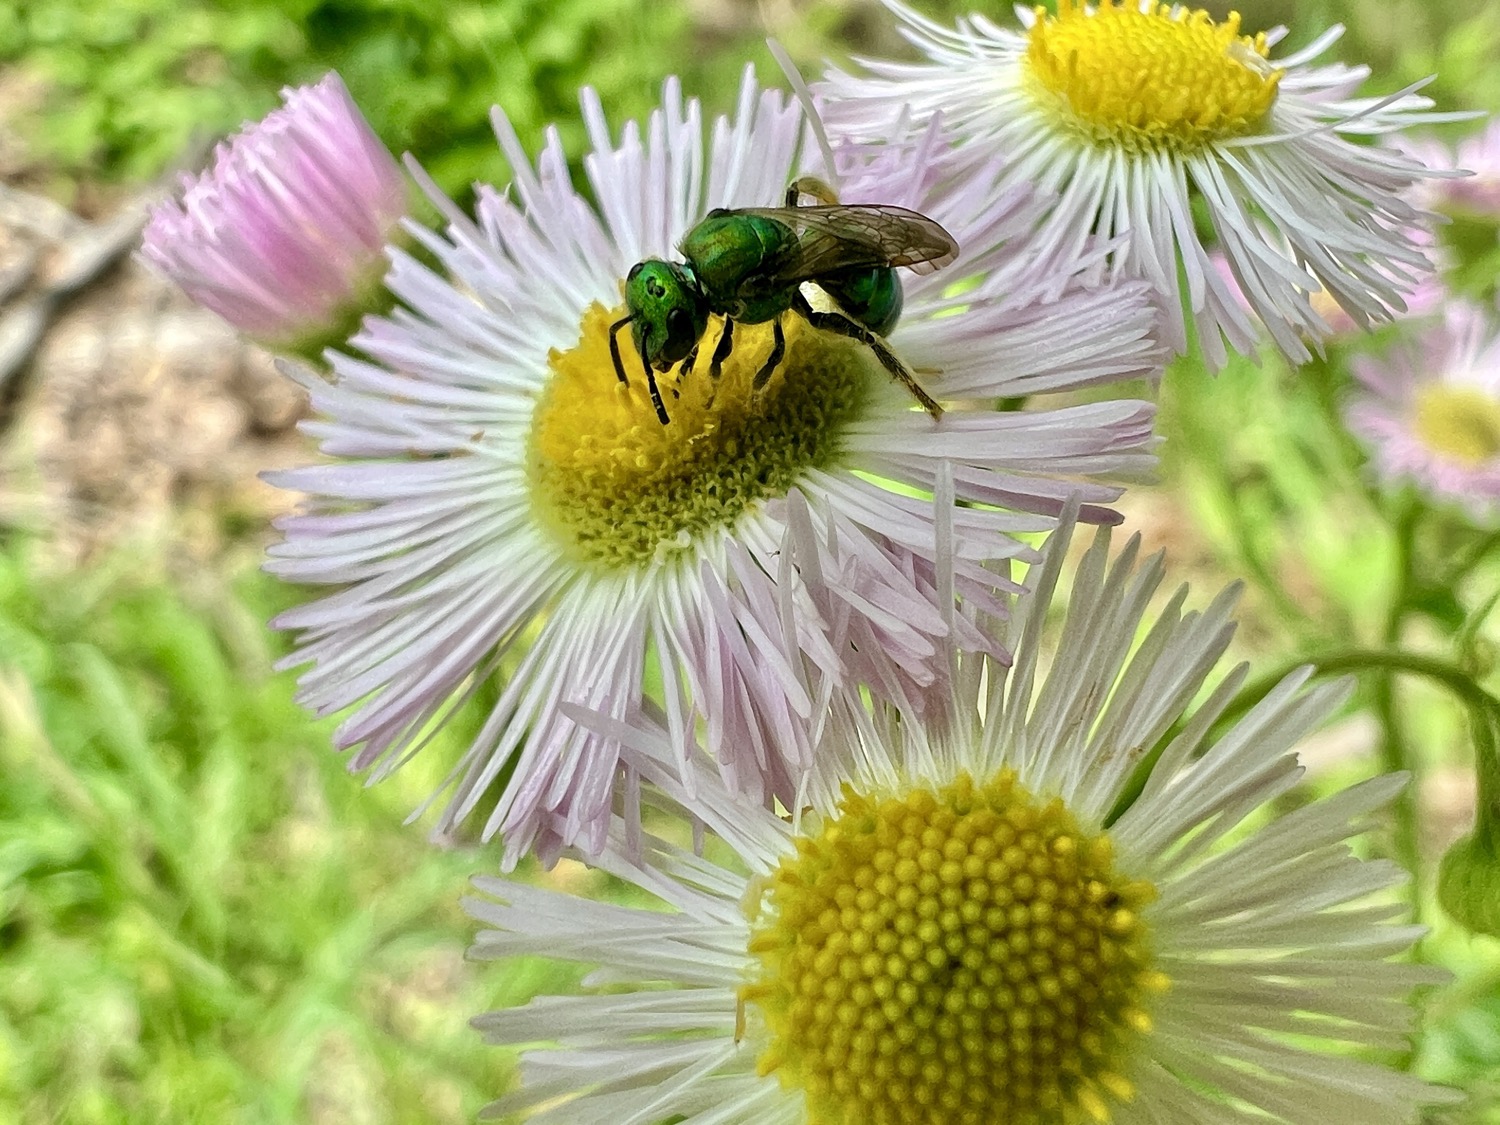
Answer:
[[[820, 202], [798, 207], [801, 195]], [[620, 381], [628, 382], [618, 342], [620, 330], [628, 324], [663, 426], [669, 418], [656, 372], [670, 370], [675, 363], [693, 369], [711, 314], [724, 318], [710, 358], [712, 378], [718, 378], [734, 346], [735, 321], [771, 321], [771, 354], [754, 376], [754, 386], [764, 387], [786, 354], [782, 314], [790, 310], [814, 328], [867, 345], [928, 414], [934, 418], [942, 414], [942, 406], [918, 386], [882, 336], [902, 315], [896, 267], [932, 273], [957, 256], [958, 244], [926, 214], [880, 204], [842, 206], [834, 200], [826, 184], [802, 178], [788, 189], [786, 207], [710, 212], [678, 246], [686, 261], [648, 258], [630, 267], [628, 315], [609, 327], [609, 351]], [[822, 312], [808, 304], [801, 291], [804, 282], [818, 285], [840, 310]]]

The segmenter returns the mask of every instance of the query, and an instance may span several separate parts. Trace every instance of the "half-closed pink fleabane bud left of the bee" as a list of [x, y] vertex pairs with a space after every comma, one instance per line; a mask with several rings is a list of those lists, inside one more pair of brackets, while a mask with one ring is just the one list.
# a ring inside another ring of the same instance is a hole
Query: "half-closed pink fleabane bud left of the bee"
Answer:
[[316, 354], [380, 291], [406, 178], [338, 74], [282, 98], [156, 206], [141, 254], [246, 336]]

